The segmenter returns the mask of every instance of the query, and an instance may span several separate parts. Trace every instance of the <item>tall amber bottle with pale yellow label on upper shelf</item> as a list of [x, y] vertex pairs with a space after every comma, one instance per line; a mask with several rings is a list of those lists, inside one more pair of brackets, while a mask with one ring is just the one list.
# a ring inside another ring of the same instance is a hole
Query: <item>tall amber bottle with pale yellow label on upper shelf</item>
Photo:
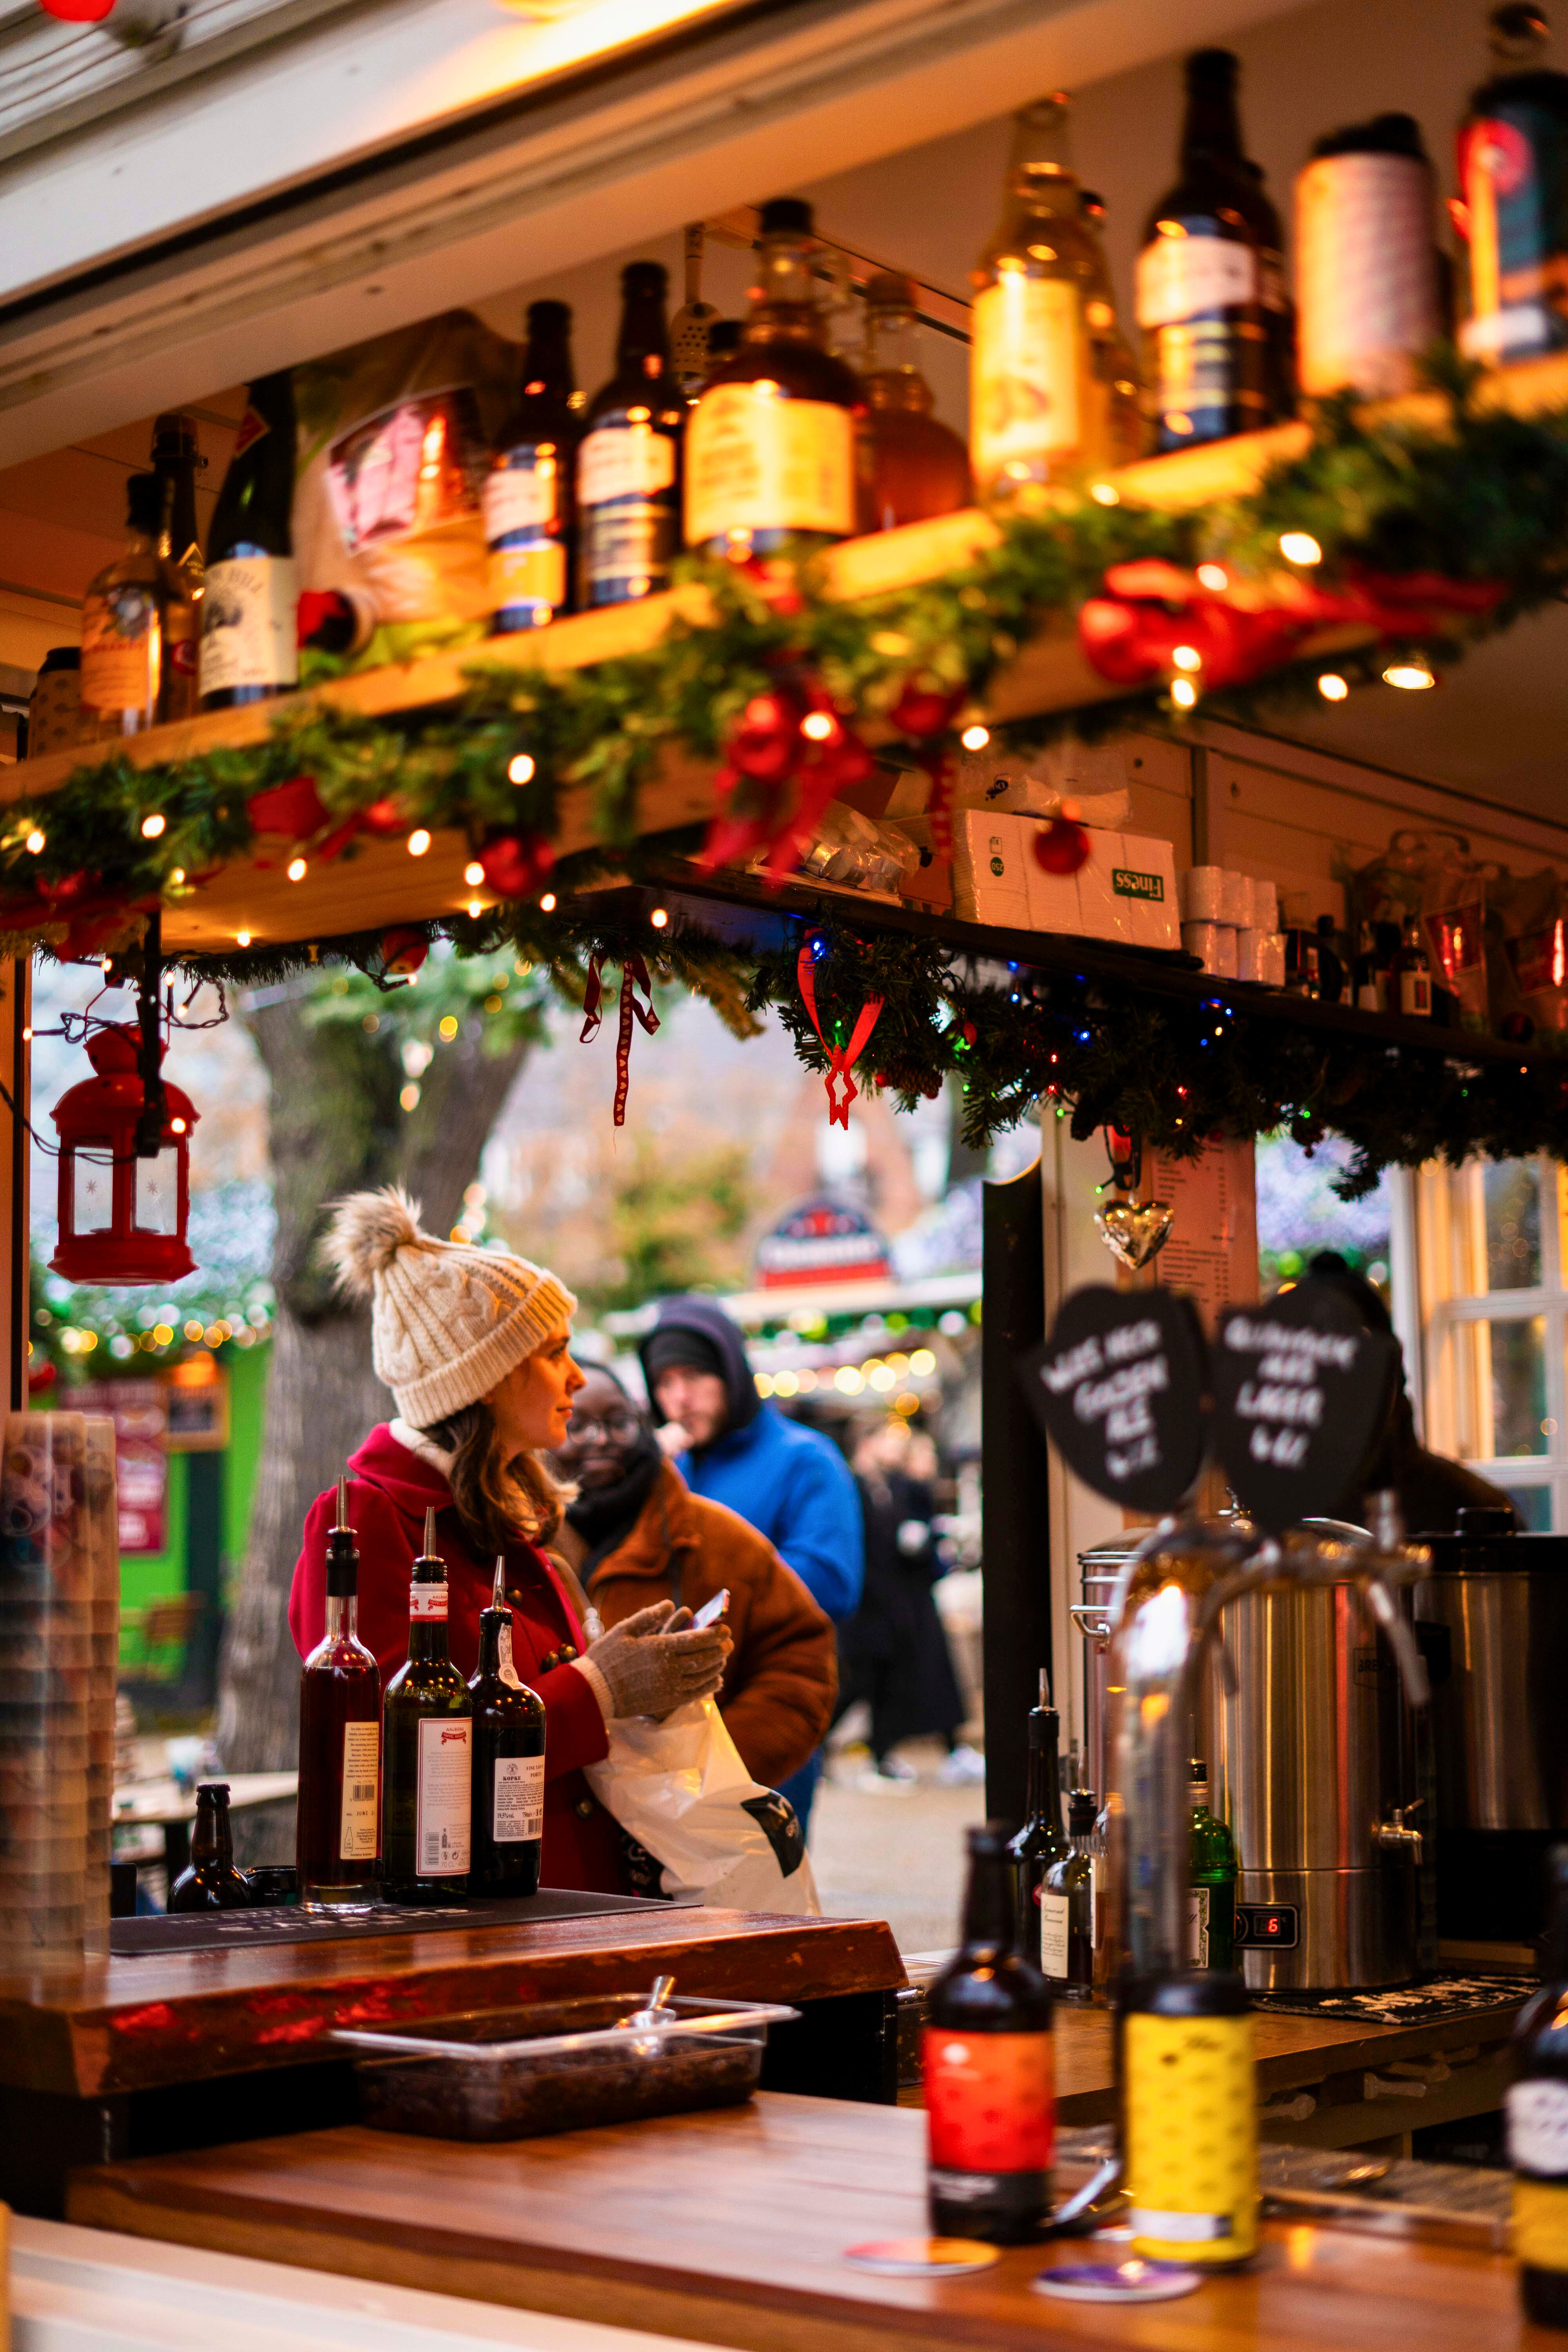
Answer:
[[973, 268], [969, 454], [983, 499], [1107, 466], [1088, 303], [1103, 270], [1067, 155], [1070, 99], [1018, 115], [1001, 226]]

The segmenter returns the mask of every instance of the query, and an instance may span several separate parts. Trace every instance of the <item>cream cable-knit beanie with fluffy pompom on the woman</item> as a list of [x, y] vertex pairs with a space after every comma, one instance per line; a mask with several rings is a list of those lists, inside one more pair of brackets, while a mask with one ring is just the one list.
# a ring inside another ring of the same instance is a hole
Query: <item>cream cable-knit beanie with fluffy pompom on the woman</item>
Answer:
[[416, 1430], [477, 1404], [576, 1310], [545, 1268], [421, 1232], [395, 1183], [336, 1202], [322, 1254], [341, 1291], [371, 1301], [376, 1378]]

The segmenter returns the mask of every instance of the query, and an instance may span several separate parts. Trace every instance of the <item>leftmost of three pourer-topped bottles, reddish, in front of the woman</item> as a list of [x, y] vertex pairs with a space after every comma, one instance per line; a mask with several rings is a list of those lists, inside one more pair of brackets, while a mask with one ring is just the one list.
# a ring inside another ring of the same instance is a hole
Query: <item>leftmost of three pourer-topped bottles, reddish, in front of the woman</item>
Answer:
[[376, 1900], [381, 1844], [381, 1668], [360, 1642], [360, 1552], [339, 1479], [327, 1536], [327, 1632], [299, 1677], [299, 1898], [322, 1910]]

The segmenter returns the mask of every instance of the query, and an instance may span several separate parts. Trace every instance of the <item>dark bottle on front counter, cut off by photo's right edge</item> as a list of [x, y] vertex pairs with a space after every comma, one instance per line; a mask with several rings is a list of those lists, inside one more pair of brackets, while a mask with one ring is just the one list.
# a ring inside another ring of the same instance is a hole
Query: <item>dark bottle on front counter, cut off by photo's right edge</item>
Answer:
[[1542, 1985], [1512, 2032], [1514, 2253], [1526, 2317], [1568, 2328], [1568, 1846], [1547, 1858]]

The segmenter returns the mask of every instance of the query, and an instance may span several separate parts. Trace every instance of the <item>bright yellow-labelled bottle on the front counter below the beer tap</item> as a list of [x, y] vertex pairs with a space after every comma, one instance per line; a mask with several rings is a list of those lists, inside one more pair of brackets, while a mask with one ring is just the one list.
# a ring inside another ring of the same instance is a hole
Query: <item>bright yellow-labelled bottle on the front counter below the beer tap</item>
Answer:
[[1258, 2086], [1239, 1976], [1126, 1985], [1121, 2112], [1133, 2253], [1246, 2263], [1258, 2251]]

